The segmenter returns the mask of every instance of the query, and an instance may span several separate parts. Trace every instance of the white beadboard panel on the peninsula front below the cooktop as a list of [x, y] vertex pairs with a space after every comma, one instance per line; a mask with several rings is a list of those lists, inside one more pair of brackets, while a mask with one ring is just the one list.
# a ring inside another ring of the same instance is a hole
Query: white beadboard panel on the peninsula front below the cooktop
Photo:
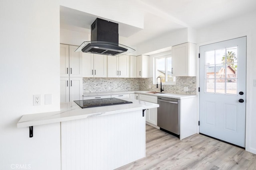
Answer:
[[112, 170], [145, 157], [142, 110], [61, 123], [62, 170]]

